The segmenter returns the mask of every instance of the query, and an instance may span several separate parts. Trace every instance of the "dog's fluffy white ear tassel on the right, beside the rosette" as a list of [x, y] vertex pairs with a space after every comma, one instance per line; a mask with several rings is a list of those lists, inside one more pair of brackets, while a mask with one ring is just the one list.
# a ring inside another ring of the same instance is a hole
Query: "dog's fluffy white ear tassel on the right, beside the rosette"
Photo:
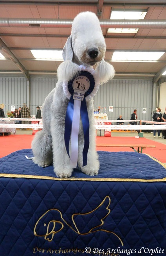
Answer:
[[108, 82], [115, 75], [115, 69], [104, 59], [97, 65], [96, 72], [99, 74], [100, 84]]

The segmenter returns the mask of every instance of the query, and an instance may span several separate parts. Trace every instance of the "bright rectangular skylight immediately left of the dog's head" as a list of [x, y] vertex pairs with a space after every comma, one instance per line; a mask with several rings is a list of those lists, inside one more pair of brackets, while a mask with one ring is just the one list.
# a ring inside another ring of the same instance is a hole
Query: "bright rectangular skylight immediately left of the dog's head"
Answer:
[[62, 50], [31, 50], [35, 59], [63, 59]]

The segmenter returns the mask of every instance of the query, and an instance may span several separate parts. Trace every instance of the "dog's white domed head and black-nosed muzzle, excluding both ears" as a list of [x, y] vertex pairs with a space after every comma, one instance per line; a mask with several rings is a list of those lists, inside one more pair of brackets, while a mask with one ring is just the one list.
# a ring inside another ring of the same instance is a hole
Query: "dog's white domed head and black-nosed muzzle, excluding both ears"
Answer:
[[105, 57], [106, 44], [97, 16], [89, 11], [79, 13], [72, 24], [73, 59], [93, 66]]

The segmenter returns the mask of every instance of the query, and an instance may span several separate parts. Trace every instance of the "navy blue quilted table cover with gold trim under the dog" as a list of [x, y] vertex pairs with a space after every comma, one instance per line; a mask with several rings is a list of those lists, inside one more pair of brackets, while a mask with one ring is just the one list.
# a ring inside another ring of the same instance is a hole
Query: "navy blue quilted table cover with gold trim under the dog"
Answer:
[[57, 178], [31, 149], [0, 159], [0, 256], [166, 255], [166, 166], [98, 151], [97, 176]]

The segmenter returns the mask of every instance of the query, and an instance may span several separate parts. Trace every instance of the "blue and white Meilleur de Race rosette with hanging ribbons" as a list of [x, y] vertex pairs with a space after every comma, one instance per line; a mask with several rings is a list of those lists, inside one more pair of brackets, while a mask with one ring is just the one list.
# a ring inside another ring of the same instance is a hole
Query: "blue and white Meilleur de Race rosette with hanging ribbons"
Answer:
[[[99, 89], [99, 78], [91, 67], [79, 66], [79, 75], [70, 81], [63, 82], [63, 91], [69, 103], [65, 117], [65, 147], [70, 157], [71, 167], [77, 167], [78, 161], [78, 133], [81, 117], [84, 133], [83, 166], [87, 165], [89, 148], [89, 119], [86, 102], [96, 95]], [[69, 141], [71, 135], [71, 152]]]

